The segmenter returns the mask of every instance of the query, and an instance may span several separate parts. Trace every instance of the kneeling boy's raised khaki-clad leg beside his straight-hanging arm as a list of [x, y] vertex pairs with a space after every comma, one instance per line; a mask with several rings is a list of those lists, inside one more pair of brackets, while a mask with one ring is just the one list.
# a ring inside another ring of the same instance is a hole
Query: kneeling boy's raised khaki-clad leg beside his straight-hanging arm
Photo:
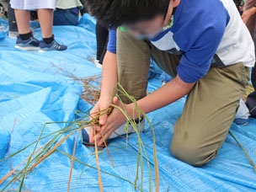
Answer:
[[[150, 49], [144, 40], [136, 40], [117, 30], [118, 80], [125, 91], [135, 99], [147, 95], [147, 74], [150, 64]], [[131, 101], [120, 95], [125, 104]]]

